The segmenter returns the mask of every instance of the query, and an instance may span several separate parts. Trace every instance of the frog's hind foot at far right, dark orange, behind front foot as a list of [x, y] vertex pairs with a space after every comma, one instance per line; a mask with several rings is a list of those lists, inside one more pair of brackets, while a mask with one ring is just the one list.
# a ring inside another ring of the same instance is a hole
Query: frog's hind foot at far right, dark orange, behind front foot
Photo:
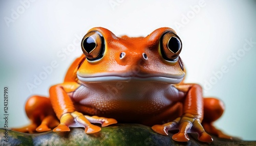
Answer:
[[[202, 123], [205, 131], [208, 133], [217, 135], [219, 138], [224, 138], [224, 139], [233, 139], [235, 137], [232, 137], [230, 135], [224, 134], [221, 130], [216, 129], [212, 124], [210, 123]], [[236, 137], [237, 138], [237, 137]]]

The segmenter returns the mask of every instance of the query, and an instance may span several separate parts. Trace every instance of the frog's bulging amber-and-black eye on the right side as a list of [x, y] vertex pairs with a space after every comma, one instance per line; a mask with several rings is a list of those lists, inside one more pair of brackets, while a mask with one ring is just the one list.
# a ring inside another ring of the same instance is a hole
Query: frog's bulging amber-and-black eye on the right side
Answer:
[[160, 51], [165, 60], [176, 61], [181, 52], [181, 48], [181, 40], [175, 33], [168, 31], [162, 35]]

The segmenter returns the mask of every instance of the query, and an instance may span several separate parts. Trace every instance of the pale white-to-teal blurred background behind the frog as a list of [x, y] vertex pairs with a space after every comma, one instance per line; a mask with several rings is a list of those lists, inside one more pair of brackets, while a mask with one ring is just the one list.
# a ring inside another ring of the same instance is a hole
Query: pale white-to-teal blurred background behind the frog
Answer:
[[[199, 4], [203, 7], [193, 12]], [[183, 42], [180, 56], [187, 69], [186, 82], [199, 83], [205, 96], [225, 103], [225, 113], [215, 125], [227, 134], [256, 140], [255, 6], [255, 1], [231, 0], [1, 1], [0, 127], [4, 127], [4, 86], [9, 87], [9, 127], [27, 125], [26, 100], [31, 94], [48, 96], [49, 87], [62, 82], [71, 62], [82, 53], [79, 41], [89, 29], [101, 26], [117, 36], [146, 36], [170, 27]], [[184, 15], [189, 17], [186, 21]], [[13, 21], [6, 22], [7, 17]], [[250, 39], [254, 44], [243, 51]], [[72, 46], [76, 48], [67, 51]], [[235, 59], [233, 53], [241, 57]], [[27, 83], [33, 84], [34, 76], [52, 61], [58, 66], [30, 91]], [[223, 66], [228, 71], [221, 76]]]

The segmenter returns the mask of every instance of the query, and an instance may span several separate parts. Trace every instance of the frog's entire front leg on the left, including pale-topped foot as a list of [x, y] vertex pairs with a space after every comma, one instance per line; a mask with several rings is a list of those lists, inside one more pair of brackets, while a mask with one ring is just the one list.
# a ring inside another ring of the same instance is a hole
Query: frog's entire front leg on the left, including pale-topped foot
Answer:
[[79, 86], [81, 85], [76, 82], [66, 82], [50, 88], [50, 100], [57, 117], [60, 119], [60, 124], [54, 128], [54, 132], [70, 131], [69, 127], [84, 127], [86, 133], [95, 133], [101, 128], [92, 125], [90, 121], [100, 123], [102, 127], [117, 123], [115, 119], [85, 116], [76, 111], [68, 92], [75, 91]]

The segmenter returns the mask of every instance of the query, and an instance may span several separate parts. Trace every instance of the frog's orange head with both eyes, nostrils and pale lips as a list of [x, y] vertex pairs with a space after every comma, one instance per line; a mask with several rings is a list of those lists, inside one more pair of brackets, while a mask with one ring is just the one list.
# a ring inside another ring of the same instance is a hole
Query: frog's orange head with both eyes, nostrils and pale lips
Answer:
[[153, 81], [177, 84], [185, 75], [179, 54], [182, 43], [175, 31], [159, 28], [146, 37], [117, 37], [93, 28], [83, 37], [84, 60], [77, 77], [86, 83]]

